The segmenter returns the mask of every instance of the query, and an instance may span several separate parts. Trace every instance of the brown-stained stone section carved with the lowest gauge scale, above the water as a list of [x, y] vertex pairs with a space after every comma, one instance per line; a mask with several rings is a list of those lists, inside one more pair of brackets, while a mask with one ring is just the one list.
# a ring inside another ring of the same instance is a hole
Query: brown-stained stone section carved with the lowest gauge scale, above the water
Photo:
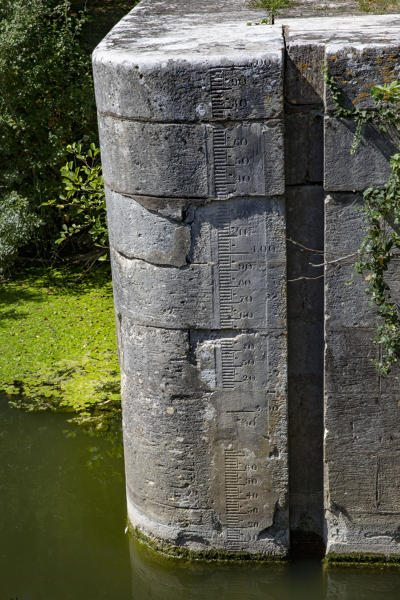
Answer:
[[[286, 398], [224, 394], [216, 409], [213, 506], [231, 548], [285, 554], [287, 535]], [[266, 433], [267, 432], [267, 433]], [[225, 476], [221, 494], [221, 473]]]

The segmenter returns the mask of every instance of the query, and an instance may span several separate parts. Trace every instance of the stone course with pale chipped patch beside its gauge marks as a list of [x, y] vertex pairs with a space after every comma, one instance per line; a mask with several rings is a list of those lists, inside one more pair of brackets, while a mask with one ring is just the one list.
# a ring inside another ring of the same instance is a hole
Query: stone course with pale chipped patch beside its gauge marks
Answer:
[[255, 397], [285, 392], [286, 336], [281, 331], [161, 329], [122, 317], [120, 338], [122, 369], [138, 393], [173, 398], [218, 390]]

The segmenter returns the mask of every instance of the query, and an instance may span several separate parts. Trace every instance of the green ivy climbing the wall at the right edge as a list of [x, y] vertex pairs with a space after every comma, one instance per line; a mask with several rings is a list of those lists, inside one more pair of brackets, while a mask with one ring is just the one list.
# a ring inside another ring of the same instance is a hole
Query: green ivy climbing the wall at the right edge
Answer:
[[390, 159], [390, 176], [382, 188], [373, 185], [363, 193], [362, 212], [367, 232], [357, 253], [355, 271], [366, 274], [366, 293], [379, 314], [374, 342], [380, 345], [380, 358], [374, 360], [377, 371], [388, 375], [400, 356], [400, 305], [393, 299], [386, 280], [393, 260], [400, 258], [400, 82], [376, 85], [371, 89], [376, 109], [367, 111], [346, 107], [334, 78], [325, 72], [325, 80], [336, 106], [336, 116], [352, 119], [356, 124], [351, 147], [354, 154], [366, 125], [371, 125], [397, 139], [399, 152]]

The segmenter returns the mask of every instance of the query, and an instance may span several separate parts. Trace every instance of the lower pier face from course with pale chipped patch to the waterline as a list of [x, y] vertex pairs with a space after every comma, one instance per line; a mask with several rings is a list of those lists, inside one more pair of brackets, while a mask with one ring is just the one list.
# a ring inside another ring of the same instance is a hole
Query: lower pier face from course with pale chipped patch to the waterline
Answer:
[[132, 522], [194, 550], [285, 554], [285, 336], [119, 329]]

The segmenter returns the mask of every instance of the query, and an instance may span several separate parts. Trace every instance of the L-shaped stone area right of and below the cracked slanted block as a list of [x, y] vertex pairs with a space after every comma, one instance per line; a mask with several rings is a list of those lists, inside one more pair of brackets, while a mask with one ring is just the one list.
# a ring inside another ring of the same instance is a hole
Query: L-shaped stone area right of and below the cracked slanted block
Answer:
[[283, 328], [283, 199], [219, 202], [197, 213], [186, 267], [112, 252], [117, 312], [155, 327]]

